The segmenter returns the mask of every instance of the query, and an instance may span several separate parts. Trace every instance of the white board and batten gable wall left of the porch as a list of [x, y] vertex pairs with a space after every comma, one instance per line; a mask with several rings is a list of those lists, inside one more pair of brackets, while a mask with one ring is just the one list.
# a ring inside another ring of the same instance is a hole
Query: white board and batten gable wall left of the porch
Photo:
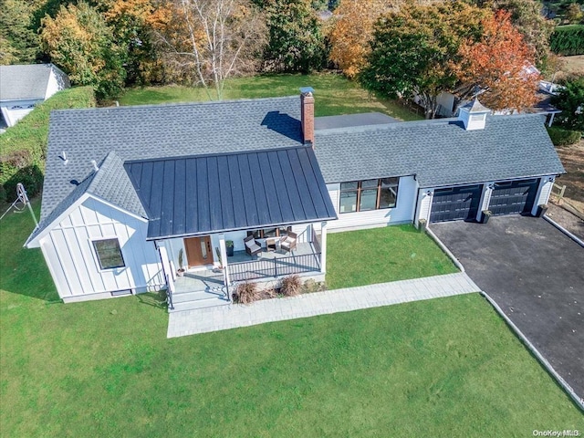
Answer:
[[[146, 220], [91, 196], [74, 205], [39, 241], [59, 297], [71, 302], [160, 289], [162, 264], [153, 242], [146, 241], [147, 228]], [[114, 237], [125, 266], [101, 269], [93, 241]]]

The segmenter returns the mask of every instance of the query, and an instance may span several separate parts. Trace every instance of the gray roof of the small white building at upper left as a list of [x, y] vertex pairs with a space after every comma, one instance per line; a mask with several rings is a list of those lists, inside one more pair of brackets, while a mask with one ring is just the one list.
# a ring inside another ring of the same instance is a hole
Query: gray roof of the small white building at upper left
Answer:
[[67, 75], [52, 64], [0, 66], [0, 100], [45, 99], [51, 71], [68, 85]]

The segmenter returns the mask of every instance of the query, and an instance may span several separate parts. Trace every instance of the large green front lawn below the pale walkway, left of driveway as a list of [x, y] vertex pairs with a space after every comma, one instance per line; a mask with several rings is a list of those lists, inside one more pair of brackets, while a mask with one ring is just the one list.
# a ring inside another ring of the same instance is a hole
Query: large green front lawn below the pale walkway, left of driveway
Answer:
[[478, 294], [165, 339], [153, 295], [57, 302], [40, 252], [21, 248], [32, 226], [0, 222], [3, 437], [582, 430]]

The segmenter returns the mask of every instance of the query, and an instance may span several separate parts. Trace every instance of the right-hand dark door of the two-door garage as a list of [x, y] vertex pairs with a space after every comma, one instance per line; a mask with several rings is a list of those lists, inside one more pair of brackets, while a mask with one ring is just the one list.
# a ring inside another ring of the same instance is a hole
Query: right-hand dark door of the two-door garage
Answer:
[[531, 213], [539, 180], [495, 183], [489, 210], [494, 215]]

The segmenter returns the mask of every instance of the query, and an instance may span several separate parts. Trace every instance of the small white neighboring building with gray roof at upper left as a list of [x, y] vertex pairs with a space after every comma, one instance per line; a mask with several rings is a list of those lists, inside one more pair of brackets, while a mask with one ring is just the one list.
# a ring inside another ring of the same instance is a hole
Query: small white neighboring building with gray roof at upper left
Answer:
[[14, 126], [37, 103], [69, 87], [68, 76], [53, 64], [0, 66], [0, 128]]

